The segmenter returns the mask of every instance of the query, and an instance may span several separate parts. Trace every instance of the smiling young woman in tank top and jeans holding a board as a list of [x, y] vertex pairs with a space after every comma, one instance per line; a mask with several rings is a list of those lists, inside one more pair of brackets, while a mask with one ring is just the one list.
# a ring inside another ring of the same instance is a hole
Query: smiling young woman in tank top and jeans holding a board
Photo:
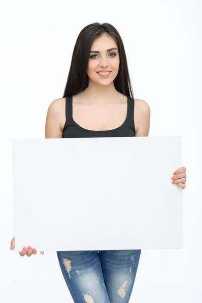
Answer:
[[[63, 97], [48, 108], [45, 137], [137, 137], [148, 136], [149, 128], [150, 107], [133, 97], [119, 33], [109, 23], [86, 26], [74, 47]], [[182, 189], [185, 171], [181, 167], [171, 178]], [[20, 256], [36, 253], [29, 246]], [[140, 255], [141, 249], [57, 251], [63, 277], [77, 303], [128, 302]]]

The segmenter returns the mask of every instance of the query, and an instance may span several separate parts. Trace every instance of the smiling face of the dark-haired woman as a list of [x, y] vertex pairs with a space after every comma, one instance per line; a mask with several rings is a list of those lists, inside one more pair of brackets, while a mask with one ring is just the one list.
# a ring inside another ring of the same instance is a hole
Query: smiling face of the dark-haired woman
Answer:
[[[96, 82], [100, 85], [109, 85], [116, 78], [118, 69], [118, 46], [110, 36], [103, 34], [97, 38], [91, 46], [87, 67], [89, 81]], [[110, 73], [104, 77], [100, 76], [98, 72], [102, 70], [110, 71]]]

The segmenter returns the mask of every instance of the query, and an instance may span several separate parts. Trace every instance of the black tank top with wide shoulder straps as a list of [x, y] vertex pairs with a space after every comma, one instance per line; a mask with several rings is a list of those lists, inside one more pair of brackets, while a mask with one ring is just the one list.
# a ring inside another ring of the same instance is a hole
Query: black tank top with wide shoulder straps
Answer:
[[81, 127], [73, 120], [73, 97], [65, 97], [66, 121], [62, 130], [62, 138], [85, 137], [134, 137], [134, 98], [127, 98], [127, 116], [122, 125], [109, 130], [90, 130]]

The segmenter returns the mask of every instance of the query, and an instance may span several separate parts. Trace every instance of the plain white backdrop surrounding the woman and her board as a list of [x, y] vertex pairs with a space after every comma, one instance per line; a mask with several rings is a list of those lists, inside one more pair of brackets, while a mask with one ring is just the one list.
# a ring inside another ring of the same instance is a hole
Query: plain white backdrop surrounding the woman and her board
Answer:
[[[182, 164], [187, 168], [184, 248], [142, 250], [130, 302], [199, 302], [201, 1], [9, 1], [0, 14], [0, 299], [73, 302], [55, 252], [22, 258], [10, 250], [12, 139], [45, 137], [47, 109], [63, 95], [76, 39], [86, 25], [98, 21], [111, 23], [122, 37], [134, 97], [151, 108], [149, 135], [182, 135]], [[146, 187], [149, 181], [146, 174]]]

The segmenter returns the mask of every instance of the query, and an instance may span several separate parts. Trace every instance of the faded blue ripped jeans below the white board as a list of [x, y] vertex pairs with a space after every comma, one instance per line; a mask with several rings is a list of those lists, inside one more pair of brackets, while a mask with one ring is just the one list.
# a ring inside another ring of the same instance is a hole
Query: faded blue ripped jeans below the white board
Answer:
[[141, 249], [57, 251], [75, 303], [127, 303]]

